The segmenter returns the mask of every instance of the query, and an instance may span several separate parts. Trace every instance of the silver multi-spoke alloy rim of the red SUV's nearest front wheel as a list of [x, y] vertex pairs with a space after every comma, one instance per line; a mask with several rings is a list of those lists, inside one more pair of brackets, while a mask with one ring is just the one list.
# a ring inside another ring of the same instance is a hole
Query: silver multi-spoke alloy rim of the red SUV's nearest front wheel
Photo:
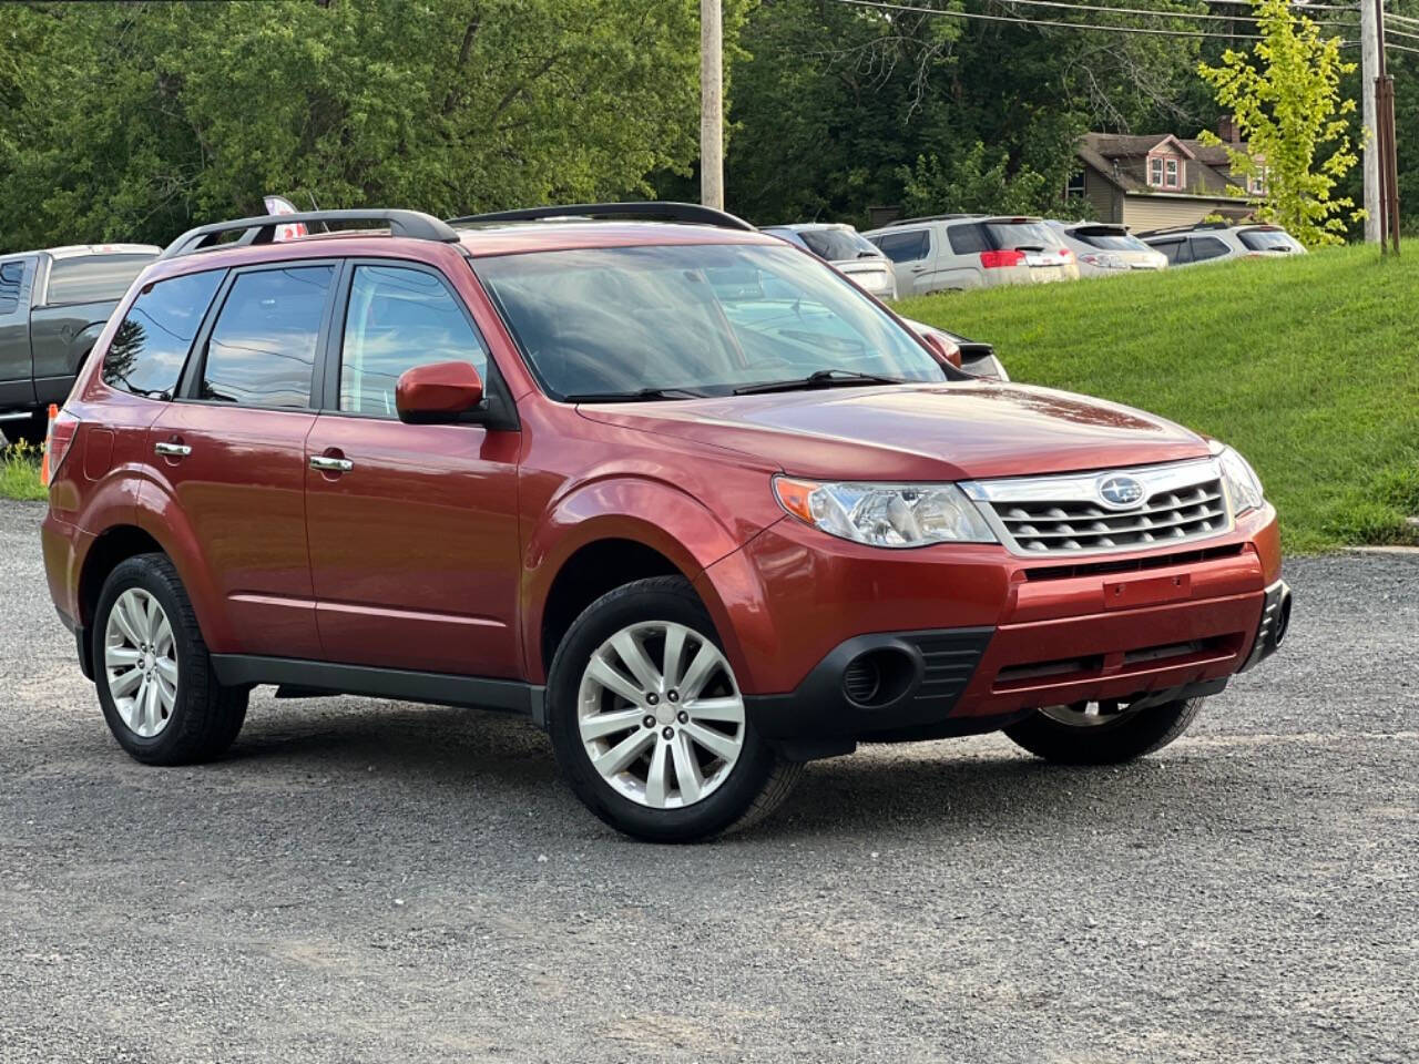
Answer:
[[724, 653], [673, 621], [622, 628], [592, 654], [578, 692], [592, 766], [650, 809], [714, 793], [744, 750], [744, 697]]

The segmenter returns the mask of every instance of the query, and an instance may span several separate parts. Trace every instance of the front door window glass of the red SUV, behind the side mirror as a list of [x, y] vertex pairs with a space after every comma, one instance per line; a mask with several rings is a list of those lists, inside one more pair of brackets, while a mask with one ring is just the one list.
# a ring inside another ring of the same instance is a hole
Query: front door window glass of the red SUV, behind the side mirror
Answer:
[[487, 380], [488, 352], [443, 281], [407, 267], [355, 267], [341, 348], [341, 410], [397, 417], [394, 386], [406, 369], [457, 360]]

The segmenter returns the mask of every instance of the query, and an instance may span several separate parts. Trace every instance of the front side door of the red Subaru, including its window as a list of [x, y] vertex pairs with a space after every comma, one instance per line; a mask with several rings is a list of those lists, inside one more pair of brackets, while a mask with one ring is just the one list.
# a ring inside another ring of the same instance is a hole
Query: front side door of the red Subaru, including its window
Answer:
[[[331, 661], [515, 677], [515, 431], [399, 420], [412, 366], [487, 346], [434, 270], [356, 262], [326, 406], [305, 443], [311, 573]], [[338, 387], [333, 380], [338, 373]]]

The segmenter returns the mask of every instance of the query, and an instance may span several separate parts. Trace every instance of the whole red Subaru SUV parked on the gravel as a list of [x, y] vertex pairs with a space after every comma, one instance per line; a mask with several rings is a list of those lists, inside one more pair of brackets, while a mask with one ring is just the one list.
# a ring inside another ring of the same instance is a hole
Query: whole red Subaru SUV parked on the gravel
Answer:
[[969, 377], [732, 216], [291, 221], [382, 228], [192, 230], [53, 421], [50, 590], [142, 762], [258, 684], [491, 706], [694, 840], [858, 742], [1137, 758], [1286, 634], [1240, 455]]

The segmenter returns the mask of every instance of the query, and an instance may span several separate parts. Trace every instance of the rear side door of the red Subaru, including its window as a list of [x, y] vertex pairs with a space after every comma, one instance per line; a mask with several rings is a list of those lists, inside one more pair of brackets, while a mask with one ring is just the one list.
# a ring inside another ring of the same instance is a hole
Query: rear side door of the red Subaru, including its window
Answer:
[[179, 397], [148, 433], [155, 477], [224, 602], [236, 641], [226, 651], [319, 657], [305, 437], [336, 271], [331, 261], [231, 271]]

